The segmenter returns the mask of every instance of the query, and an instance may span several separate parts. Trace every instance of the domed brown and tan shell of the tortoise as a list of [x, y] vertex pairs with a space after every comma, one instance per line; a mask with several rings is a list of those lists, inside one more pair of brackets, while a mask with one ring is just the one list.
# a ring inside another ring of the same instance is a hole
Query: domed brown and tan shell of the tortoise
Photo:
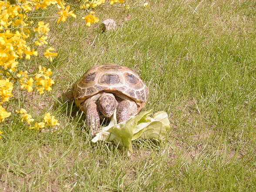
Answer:
[[74, 84], [72, 91], [78, 107], [89, 97], [103, 91], [131, 98], [138, 105], [137, 112], [144, 108], [148, 99], [148, 87], [138, 74], [117, 64], [92, 67]]

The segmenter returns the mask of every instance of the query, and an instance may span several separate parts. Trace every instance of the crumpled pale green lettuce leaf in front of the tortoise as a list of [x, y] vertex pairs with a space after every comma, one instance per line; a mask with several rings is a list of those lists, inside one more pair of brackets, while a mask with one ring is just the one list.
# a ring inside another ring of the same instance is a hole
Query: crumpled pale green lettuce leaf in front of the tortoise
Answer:
[[131, 154], [131, 141], [139, 137], [163, 140], [170, 128], [168, 115], [165, 111], [158, 111], [153, 117], [149, 117], [152, 111], [143, 111], [118, 124], [115, 111], [109, 125], [98, 132], [92, 141], [113, 141], [116, 145], [127, 148], [128, 154]]

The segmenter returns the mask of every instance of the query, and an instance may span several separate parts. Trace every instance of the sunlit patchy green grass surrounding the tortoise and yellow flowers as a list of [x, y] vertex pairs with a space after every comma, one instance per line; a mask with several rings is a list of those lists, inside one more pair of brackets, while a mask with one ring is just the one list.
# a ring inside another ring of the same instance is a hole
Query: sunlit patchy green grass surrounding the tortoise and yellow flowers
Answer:
[[[12, 104], [37, 118], [52, 111], [61, 126], [58, 133], [38, 133], [15, 115], [0, 125], [0, 190], [256, 191], [255, 1], [142, 4], [98, 8], [101, 21], [118, 24], [107, 33], [100, 24], [87, 28], [78, 8], [77, 19], [63, 24], [46, 19], [58, 56], [25, 64], [51, 67], [54, 90], [40, 97], [22, 92]], [[92, 143], [81, 111], [57, 103], [88, 68], [104, 63], [131, 67], [148, 84], [146, 109], [169, 114], [166, 142], [139, 139], [127, 157], [111, 143]]]

